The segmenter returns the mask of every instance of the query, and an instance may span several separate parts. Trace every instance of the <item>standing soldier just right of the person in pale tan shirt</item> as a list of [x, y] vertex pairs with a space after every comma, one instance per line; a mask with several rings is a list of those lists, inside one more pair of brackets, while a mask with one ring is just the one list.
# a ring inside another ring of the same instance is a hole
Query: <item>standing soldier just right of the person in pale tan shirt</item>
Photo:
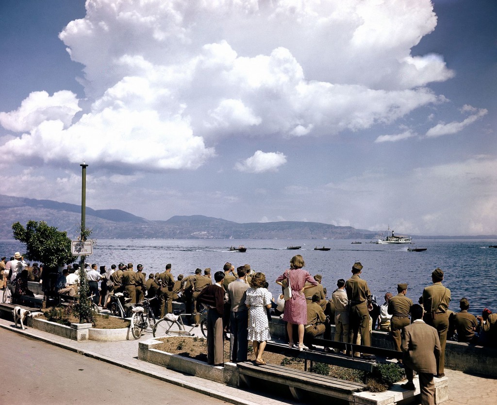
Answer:
[[[354, 263], [352, 266], [352, 277], [345, 283], [345, 291], [350, 301], [349, 307], [349, 330], [352, 334], [351, 342], [358, 343], [358, 334], [361, 334], [362, 344], [371, 346], [371, 333], [369, 323], [369, 309], [371, 304], [371, 291], [368, 283], [362, 280], [359, 275], [362, 273], [362, 264]], [[364, 357], [371, 357], [364, 354]]]

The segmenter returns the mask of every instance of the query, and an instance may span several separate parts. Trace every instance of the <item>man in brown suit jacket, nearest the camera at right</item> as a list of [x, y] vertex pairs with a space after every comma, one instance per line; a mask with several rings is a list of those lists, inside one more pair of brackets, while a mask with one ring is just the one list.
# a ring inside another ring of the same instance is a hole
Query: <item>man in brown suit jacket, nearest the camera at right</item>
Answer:
[[404, 352], [404, 368], [408, 382], [401, 387], [414, 390], [414, 371], [419, 376], [421, 404], [435, 404], [435, 384], [433, 374], [437, 373], [437, 363], [441, 355], [440, 339], [436, 329], [421, 319], [423, 308], [413, 305], [411, 308], [413, 323], [404, 328], [402, 351]]

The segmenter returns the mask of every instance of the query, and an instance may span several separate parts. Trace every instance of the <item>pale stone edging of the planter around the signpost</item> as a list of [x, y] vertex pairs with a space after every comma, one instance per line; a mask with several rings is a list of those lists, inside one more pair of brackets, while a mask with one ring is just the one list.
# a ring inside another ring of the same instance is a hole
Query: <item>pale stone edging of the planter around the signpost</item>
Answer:
[[132, 336], [130, 328], [97, 329], [91, 327], [91, 323], [71, 323], [71, 326], [66, 326], [32, 316], [28, 316], [27, 324], [32, 328], [76, 341], [96, 340], [100, 342], [115, 342], [129, 340], [130, 336]]

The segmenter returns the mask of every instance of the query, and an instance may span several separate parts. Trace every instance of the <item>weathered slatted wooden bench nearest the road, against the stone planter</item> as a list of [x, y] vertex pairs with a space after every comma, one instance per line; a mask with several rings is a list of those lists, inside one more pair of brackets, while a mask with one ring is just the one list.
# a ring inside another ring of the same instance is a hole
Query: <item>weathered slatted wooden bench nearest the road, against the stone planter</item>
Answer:
[[238, 363], [237, 367], [240, 379], [248, 388], [254, 387], [253, 379], [281, 384], [287, 386], [292, 396], [299, 402], [306, 398], [304, 392], [313, 392], [354, 404], [353, 394], [366, 389], [366, 385], [361, 383], [344, 381], [275, 364], [257, 366], [252, 362], [243, 362]]

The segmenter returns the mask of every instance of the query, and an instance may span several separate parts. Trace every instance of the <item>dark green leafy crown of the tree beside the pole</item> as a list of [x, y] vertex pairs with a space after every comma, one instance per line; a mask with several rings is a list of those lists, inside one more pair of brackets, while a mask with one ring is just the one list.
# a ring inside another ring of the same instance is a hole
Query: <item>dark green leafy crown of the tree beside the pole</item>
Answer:
[[24, 256], [42, 262], [46, 267], [57, 268], [74, 262], [71, 239], [66, 231], [48, 226], [45, 221], [30, 220], [24, 228], [19, 222], [12, 224], [14, 239], [26, 244]]

